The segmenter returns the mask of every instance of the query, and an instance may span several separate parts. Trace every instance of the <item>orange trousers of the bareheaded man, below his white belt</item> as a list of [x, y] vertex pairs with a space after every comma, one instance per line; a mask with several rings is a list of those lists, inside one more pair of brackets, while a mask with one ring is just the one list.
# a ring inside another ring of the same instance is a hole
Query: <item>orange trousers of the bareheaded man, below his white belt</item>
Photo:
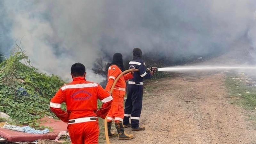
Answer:
[[70, 124], [68, 133], [74, 144], [98, 144], [100, 134], [98, 121]]

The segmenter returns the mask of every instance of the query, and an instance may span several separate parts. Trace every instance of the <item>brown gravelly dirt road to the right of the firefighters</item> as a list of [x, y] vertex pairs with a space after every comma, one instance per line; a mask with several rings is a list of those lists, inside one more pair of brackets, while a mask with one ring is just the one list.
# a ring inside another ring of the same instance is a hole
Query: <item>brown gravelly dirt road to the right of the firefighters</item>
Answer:
[[128, 128], [135, 139], [111, 138], [111, 143], [255, 144], [256, 128], [247, 112], [229, 103], [225, 75], [200, 77], [204, 82], [173, 77], [148, 84], [140, 119], [146, 131]]

